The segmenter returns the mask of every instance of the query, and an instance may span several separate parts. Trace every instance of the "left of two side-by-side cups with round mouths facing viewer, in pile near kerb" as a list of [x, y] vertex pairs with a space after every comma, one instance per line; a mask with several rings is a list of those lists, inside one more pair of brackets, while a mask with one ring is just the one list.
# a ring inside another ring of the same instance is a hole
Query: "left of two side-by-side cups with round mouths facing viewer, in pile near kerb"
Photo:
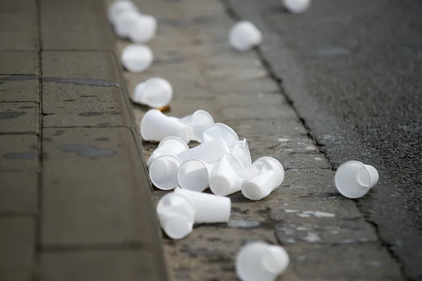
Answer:
[[153, 160], [149, 168], [151, 182], [161, 190], [177, 187], [177, 171], [181, 161], [173, 155], [162, 155]]

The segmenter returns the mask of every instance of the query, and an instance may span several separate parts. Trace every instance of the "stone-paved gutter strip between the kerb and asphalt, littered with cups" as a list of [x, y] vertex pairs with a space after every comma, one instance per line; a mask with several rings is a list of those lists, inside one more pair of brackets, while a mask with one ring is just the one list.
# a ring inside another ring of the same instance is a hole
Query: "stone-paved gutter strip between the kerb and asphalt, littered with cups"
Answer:
[[[242, 244], [282, 244], [290, 266], [279, 280], [404, 280], [401, 268], [380, 242], [353, 200], [341, 197], [334, 172], [309, 138], [279, 81], [254, 51], [229, 48], [234, 21], [218, 0], [135, 0], [142, 13], [158, 18], [151, 41], [155, 61], [141, 74], [124, 73], [134, 86], [154, 76], [174, 86], [169, 115], [207, 110], [216, 122], [248, 138], [252, 160], [279, 159], [286, 170], [280, 188], [251, 202], [231, 195], [228, 224], [199, 225], [184, 240], [164, 238], [171, 280], [237, 280], [234, 258]], [[127, 41], [120, 41], [120, 53]], [[148, 108], [134, 105], [136, 124]], [[195, 145], [195, 144], [193, 144]], [[143, 143], [146, 157], [156, 145]], [[166, 192], [153, 190], [157, 202]]]

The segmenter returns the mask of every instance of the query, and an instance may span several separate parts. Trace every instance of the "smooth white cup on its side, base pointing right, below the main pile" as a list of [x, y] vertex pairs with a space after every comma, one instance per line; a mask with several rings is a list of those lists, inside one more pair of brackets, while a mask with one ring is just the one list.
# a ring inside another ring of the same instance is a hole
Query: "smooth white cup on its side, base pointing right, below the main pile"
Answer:
[[196, 223], [226, 223], [230, 219], [231, 201], [229, 197], [182, 188], [174, 189], [174, 193], [185, 197], [196, 208]]

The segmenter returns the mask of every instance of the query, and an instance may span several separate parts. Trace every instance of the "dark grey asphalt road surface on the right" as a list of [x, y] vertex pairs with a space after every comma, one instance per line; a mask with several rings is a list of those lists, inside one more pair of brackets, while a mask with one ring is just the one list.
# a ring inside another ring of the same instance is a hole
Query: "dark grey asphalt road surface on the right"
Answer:
[[274, 77], [333, 169], [356, 159], [380, 181], [356, 200], [408, 280], [422, 280], [422, 1], [229, 0], [264, 33]]

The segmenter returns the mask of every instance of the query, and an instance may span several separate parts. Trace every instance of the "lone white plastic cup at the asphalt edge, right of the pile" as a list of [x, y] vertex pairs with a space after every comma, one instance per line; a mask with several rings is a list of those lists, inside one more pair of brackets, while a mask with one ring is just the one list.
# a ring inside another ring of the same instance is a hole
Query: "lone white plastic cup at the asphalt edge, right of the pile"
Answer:
[[335, 171], [334, 181], [338, 192], [347, 198], [359, 198], [378, 183], [378, 171], [359, 161], [347, 161]]

